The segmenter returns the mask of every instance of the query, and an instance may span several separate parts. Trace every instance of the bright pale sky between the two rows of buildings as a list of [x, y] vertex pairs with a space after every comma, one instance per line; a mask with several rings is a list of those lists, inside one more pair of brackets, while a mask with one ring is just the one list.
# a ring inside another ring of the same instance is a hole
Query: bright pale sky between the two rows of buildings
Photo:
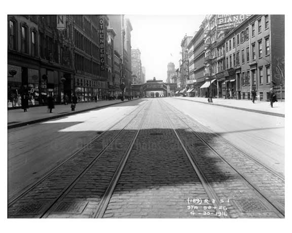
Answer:
[[181, 59], [181, 40], [185, 34], [194, 36], [205, 15], [125, 15], [130, 19], [132, 49], [141, 52], [146, 80], [166, 80], [167, 64], [178, 68]]

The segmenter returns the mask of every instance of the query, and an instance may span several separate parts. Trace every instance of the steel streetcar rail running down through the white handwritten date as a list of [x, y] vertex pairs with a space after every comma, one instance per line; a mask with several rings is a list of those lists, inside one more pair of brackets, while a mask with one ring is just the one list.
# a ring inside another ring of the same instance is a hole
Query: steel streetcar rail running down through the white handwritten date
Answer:
[[[162, 104], [160, 103], [160, 101], [159, 101], [159, 104], [162, 107]], [[216, 207], [217, 210], [219, 210], [220, 206], [217, 203], [220, 203], [220, 199], [215, 194], [215, 191], [213, 190], [213, 188], [208, 184], [206, 177], [204, 176], [203, 172], [201, 171], [201, 169], [198, 166], [198, 164], [196, 163], [196, 161], [193, 160], [193, 158], [189, 152], [189, 149], [184, 145], [184, 142], [182, 142], [182, 139], [180, 138], [179, 134], [176, 132], [172, 121], [169, 119], [169, 116], [167, 114], [165, 114], [165, 111], [163, 111], [163, 112], [164, 112], [164, 115], [166, 116], [166, 118], [168, 119], [168, 123], [171, 126], [170, 128], [174, 131], [174, 134], [177, 137], [182, 149], [184, 149], [190, 163], [192, 164], [192, 167], [194, 168], [196, 174], [198, 175], [198, 177], [199, 177], [199, 179], [200, 179], [200, 181], [201, 181], [201, 183], [206, 191], [206, 194], [208, 195], [210, 200], [212, 200], [212, 199], [215, 200], [215, 203], [213, 203], [213, 205]], [[228, 215], [227, 216], [220, 215], [218, 217], [219, 218], [225, 218], [225, 217], [229, 218]]]

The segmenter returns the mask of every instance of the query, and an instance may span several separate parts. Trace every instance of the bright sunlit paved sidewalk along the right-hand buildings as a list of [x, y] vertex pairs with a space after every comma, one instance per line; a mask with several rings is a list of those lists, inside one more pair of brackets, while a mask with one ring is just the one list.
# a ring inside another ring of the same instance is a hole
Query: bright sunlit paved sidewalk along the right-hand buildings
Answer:
[[257, 112], [262, 114], [274, 115], [285, 117], [285, 102], [275, 102], [273, 108], [270, 106], [270, 102], [267, 101], [254, 101], [251, 100], [232, 100], [232, 99], [217, 99], [214, 98], [213, 103], [208, 103], [207, 98], [202, 97], [174, 97], [176, 99], [200, 102], [210, 105], [222, 106], [227, 108], [234, 108], [249, 112]]

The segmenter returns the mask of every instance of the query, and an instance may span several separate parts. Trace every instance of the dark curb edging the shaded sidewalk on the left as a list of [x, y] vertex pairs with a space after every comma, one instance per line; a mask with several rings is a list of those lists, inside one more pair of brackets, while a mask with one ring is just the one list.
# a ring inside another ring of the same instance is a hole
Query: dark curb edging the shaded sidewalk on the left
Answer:
[[[135, 99], [135, 100], [139, 100], [139, 99]], [[83, 109], [83, 110], [79, 110], [79, 111], [72, 111], [70, 113], [64, 113], [64, 114], [61, 114], [61, 115], [56, 115], [56, 116], [51, 116], [51, 117], [46, 117], [46, 118], [41, 118], [41, 119], [35, 119], [35, 120], [32, 120], [32, 121], [27, 121], [27, 122], [21, 122], [21, 123], [18, 123], [18, 124], [8, 125], [7, 129], [17, 128], [17, 127], [21, 127], [21, 126], [25, 126], [25, 125], [29, 125], [29, 124], [35, 124], [35, 123], [39, 123], [39, 122], [42, 122], [42, 121], [56, 119], [56, 118], [60, 118], [60, 117], [64, 117], [64, 116], [70, 116], [70, 115], [74, 115], [74, 114], [78, 114], [78, 113], [82, 113], [82, 112], [87, 112], [87, 111], [91, 111], [91, 110], [94, 110], [94, 109], [104, 108], [104, 107], [108, 107], [108, 106], [112, 106], [112, 105], [128, 103], [130, 101], [134, 101], [134, 100], [129, 100], [127, 102], [113, 103], [113, 104], [98, 106], [98, 107], [94, 107], [94, 108]]]

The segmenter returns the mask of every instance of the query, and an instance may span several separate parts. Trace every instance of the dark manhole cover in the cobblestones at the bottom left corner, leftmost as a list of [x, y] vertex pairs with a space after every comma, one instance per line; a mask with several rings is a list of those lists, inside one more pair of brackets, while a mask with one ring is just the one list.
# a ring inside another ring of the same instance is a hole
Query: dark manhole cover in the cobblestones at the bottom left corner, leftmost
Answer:
[[47, 203], [25, 203], [12, 206], [8, 210], [8, 215], [36, 215], [40, 214]]

